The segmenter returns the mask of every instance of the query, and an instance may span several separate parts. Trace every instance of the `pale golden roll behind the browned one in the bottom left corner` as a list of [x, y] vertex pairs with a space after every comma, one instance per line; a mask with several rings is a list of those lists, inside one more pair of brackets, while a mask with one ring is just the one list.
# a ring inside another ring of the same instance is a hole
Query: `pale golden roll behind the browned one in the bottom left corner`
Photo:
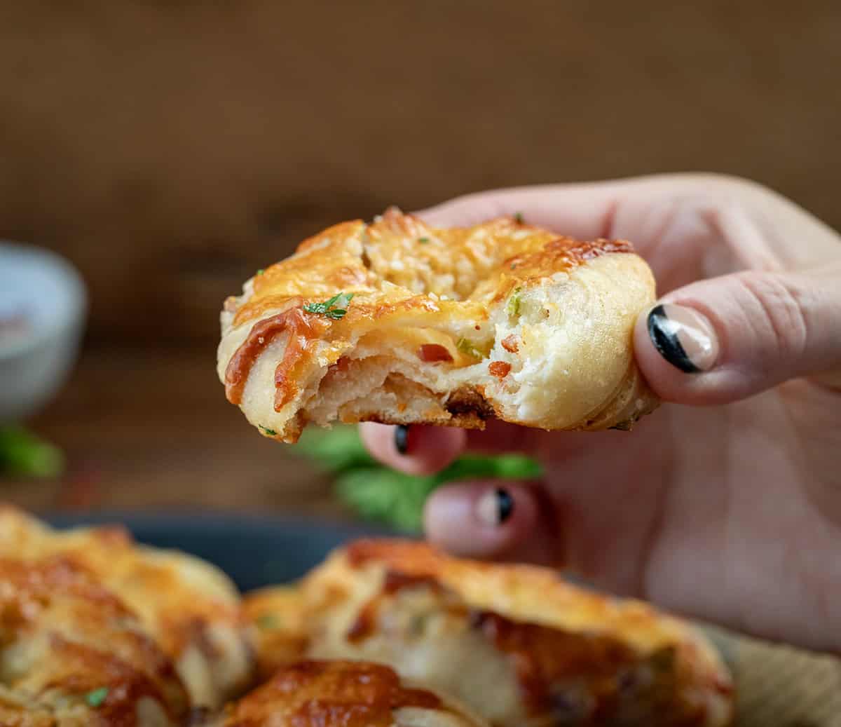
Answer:
[[54, 530], [0, 507], [0, 558], [51, 557], [85, 570], [136, 614], [175, 664], [194, 706], [219, 707], [248, 686], [254, 660], [239, 593], [213, 565], [135, 544], [124, 528]]

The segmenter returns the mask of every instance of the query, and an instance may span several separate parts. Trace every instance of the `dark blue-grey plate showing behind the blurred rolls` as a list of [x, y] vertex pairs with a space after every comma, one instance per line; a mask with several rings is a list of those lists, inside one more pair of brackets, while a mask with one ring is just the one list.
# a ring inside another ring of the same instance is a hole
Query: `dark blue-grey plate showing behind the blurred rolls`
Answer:
[[120, 523], [141, 543], [175, 548], [218, 565], [242, 591], [292, 581], [336, 546], [383, 529], [304, 517], [98, 512], [51, 515], [59, 528]]

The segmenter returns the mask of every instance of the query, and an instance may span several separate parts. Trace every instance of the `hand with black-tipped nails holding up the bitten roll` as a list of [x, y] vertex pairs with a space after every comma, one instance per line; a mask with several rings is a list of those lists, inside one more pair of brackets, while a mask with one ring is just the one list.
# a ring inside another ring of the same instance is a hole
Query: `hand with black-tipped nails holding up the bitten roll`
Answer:
[[364, 425], [373, 454], [411, 473], [464, 448], [542, 460], [542, 482], [436, 491], [428, 537], [841, 650], [841, 238], [769, 189], [712, 175], [489, 192], [421, 216], [454, 226], [516, 212], [646, 257], [665, 305], [637, 321], [636, 358], [674, 404], [632, 432], [412, 427], [402, 455], [394, 427]]

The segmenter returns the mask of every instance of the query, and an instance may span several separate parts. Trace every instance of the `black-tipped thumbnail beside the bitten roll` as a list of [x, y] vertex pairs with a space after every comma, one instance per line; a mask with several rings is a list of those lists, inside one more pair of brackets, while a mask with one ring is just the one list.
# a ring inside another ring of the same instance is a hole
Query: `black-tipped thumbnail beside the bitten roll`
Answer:
[[694, 308], [655, 305], [648, 314], [648, 336], [660, 355], [685, 374], [708, 371], [718, 358], [715, 329]]

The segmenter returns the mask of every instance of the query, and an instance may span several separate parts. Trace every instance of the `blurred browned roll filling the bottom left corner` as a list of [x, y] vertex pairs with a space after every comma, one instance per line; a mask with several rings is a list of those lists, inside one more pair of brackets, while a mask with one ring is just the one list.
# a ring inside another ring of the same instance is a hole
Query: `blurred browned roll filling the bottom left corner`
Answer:
[[61, 555], [0, 558], [0, 724], [185, 724], [188, 694], [140, 619]]

